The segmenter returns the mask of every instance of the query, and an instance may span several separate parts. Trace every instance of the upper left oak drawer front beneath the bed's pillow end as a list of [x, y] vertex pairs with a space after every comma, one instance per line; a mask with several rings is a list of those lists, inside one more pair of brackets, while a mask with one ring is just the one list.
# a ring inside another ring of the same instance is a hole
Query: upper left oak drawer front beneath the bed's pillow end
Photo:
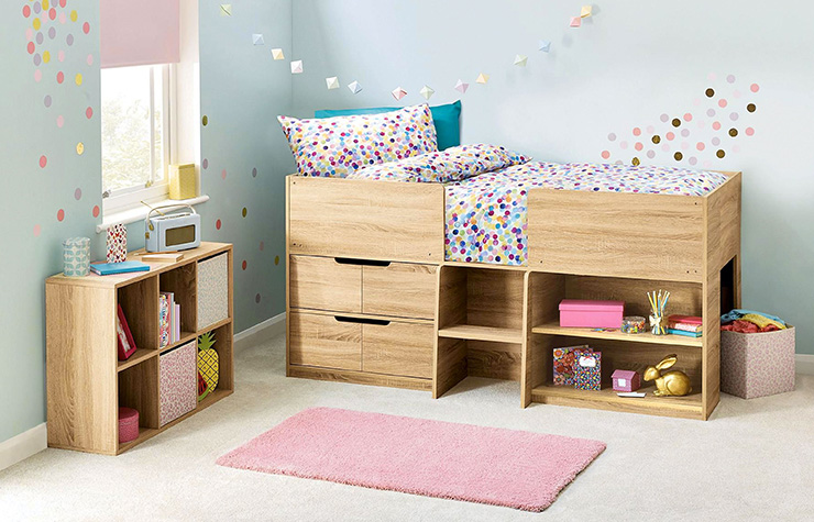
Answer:
[[333, 257], [290, 257], [290, 307], [359, 313], [362, 266]]

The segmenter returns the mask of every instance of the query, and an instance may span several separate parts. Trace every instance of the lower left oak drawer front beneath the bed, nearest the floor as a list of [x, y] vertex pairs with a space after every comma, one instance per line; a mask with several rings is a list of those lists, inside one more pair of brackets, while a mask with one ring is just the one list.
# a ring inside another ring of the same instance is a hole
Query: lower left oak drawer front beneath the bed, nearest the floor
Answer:
[[289, 321], [290, 364], [362, 369], [362, 324], [302, 312], [292, 312]]

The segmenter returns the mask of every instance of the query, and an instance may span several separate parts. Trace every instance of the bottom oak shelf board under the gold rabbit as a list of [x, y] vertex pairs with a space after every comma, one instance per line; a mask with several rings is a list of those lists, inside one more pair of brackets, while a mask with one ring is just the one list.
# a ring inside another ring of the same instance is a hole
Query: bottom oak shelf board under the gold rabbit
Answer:
[[591, 391], [578, 390], [570, 386], [553, 386], [549, 382], [531, 390], [531, 401], [693, 419], [701, 418], [703, 414], [700, 391], [693, 391], [685, 397], [656, 397], [652, 395], [654, 390], [653, 386], [648, 386], [637, 390], [646, 392], [646, 397], [619, 397], [612, 387], [603, 388], [601, 391]]

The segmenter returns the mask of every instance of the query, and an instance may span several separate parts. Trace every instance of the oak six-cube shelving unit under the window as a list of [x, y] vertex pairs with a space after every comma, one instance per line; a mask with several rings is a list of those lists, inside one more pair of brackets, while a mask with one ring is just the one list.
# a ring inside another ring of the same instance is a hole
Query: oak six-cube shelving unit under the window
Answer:
[[[129, 260], [140, 260], [134, 252]], [[228, 256], [228, 316], [198, 325], [198, 263]], [[56, 275], [45, 281], [48, 446], [118, 455], [208, 408], [234, 390], [232, 245], [201, 243], [177, 263], [147, 263], [150, 271], [87, 277]], [[182, 336], [158, 346], [158, 295], [175, 293]], [[138, 351], [118, 359], [117, 306]], [[219, 382], [197, 407], [160, 425], [160, 355], [216, 332]], [[139, 437], [119, 444], [119, 407], [139, 411]]]

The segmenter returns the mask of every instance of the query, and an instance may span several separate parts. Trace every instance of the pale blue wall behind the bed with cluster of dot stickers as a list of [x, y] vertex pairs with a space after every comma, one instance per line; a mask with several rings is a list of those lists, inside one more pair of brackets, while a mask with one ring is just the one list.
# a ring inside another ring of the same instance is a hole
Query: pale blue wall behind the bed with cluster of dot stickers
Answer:
[[[505, 144], [556, 162], [602, 162], [607, 151], [610, 162], [636, 155], [645, 164], [689, 166], [695, 157], [697, 167], [743, 170], [744, 304], [795, 324], [798, 352], [814, 354], [814, 300], [806, 293], [814, 288], [814, 68], [807, 65], [814, 7], [614, 0], [595, 3], [594, 15], [570, 29], [580, 7], [559, 0], [297, 0], [294, 52], [305, 73], [293, 78], [295, 112], [393, 104], [389, 92], [398, 86], [408, 92], [402, 104], [416, 104], [427, 84], [437, 91], [433, 103], [462, 99], [464, 143]], [[537, 51], [541, 38], [552, 42], [549, 54]], [[528, 56], [526, 68], [513, 65], [516, 54]], [[491, 75], [485, 86], [475, 84], [481, 71]], [[328, 76], [339, 76], [342, 88], [327, 90]], [[453, 90], [459, 78], [471, 84], [465, 95]], [[356, 96], [345, 87], [353, 80], [364, 89]], [[715, 89], [713, 99], [707, 88]], [[717, 105], [722, 95], [725, 109]], [[749, 102], [755, 113], [746, 110]], [[693, 121], [679, 130], [660, 120], [685, 113]], [[714, 121], [722, 122], [719, 131]], [[640, 137], [634, 127], [647, 134], [649, 125], [661, 136], [678, 134], [668, 152], [648, 140], [635, 152]], [[736, 138], [730, 127], [739, 131]], [[715, 137], [721, 145], [713, 146]], [[673, 158], [676, 151], [683, 160]]]

